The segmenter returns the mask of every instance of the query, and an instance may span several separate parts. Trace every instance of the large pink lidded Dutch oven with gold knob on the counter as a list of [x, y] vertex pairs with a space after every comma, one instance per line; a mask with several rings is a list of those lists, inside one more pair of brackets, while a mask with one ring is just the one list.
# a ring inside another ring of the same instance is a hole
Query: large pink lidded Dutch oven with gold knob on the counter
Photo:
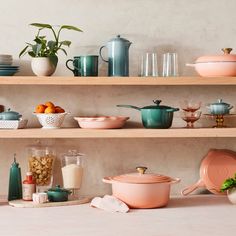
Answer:
[[137, 167], [139, 173], [104, 177], [112, 185], [112, 194], [130, 208], [158, 208], [168, 204], [171, 184], [180, 179], [159, 174], [145, 174], [146, 167]]

